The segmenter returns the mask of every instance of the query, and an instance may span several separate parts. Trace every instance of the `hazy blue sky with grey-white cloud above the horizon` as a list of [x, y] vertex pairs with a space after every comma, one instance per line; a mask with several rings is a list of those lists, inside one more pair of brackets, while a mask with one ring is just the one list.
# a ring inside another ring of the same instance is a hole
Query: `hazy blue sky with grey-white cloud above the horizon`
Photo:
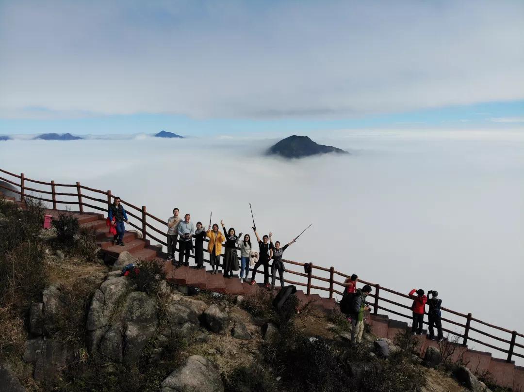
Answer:
[[0, 134], [524, 129], [524, 3], [0, 0]]

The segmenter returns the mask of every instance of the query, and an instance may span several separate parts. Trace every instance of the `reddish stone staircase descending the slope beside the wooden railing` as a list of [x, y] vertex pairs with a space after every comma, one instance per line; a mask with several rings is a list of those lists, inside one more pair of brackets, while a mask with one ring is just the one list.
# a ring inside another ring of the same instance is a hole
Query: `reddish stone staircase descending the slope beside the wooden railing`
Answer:
[[[11, 198], [12, 199], [12, 198]], [[46, 213], [57, 217], [60, 213], [65, 211], [47, 210]], [[112, 236], [109, 234], [109, 229], [106, 226], [104, 215], [86, 212], [80, 214], [78, 212], [67, 212], [79, 219], [80, 225], [83, 228], [91, 228], [96, 238], [96, 243], [105, 251], [107, 257], [116, 260], [118, 255], [124, 251], [128, 251], [134, 257], [140, 260], [161, 260], [163, 262], [165, 254], [162, 253], [161, 247], [151, 245], [148, 240], [141, 238], [141, 233], [136, 231], [126, 231], [124, 236], [124, 246], [112, 245]], [[249, 285], [242, 283], [238, 275], [232, 278], [225, 278], [222, 272], [211, 274], [210, 271], [204, 269], [196, 270], [194, 267], [181, 266], [174, 268], [170, 262], [165, 262], [165, 270], [167, 280], [179, 285], [193, 286], [202, 290], [209, 290], [216, 293], [230, 294], [230, 295], [246, 295], [253, 290], [265, 289], [262, 284]], [[262, 277], [263, 275], [258, 275]], [[335, 308], [336, 303], [333, 298], [323, 298], [318, 294], [307, 295], [302, 290], [297, 291], [297, 297], [300, 300], [301, 306], [311, 303], [313, 306], [322, 311], [330, 311]], [[395, 335], [408, 328], [408, 323], [398, 320], [391, 320], [387, 315], [367, 315], [367, 320], [372, 327], [373, 333], [378, 337], [392, 339]], [[423, 335], [417, 335], [420, 340], [420, 354], [424, 355], [425, 350], [429, 346], [438, 348], [438, 343], [431, 341]], [[451, 343], [450, 343], [451, 344]], [[489, 352], [476, 351], [468, 349], [463, 345], [456, 345], [453, 359], [456, 360], [463, 356], [465, 361], [469, 361], [468, 367], [475, 373], [482, 373], [489, 371], [496, 379], [497, 383], [516, 392], [524, 392], [524, 367], [515, 366], [514, 363], [508, 363], [503, 359], [492, 357]]]

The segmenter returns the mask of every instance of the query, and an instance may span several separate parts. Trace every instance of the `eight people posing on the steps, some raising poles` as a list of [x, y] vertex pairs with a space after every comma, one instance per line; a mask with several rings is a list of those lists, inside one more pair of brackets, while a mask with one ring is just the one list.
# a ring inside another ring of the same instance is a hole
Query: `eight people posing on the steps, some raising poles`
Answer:
[[[171, 261], [174, 266], [180, 267], [181, 265], [189, 266], [190, 252], [194, 253], [194, 259], [196, 268], [204, 268], [204, 238], [208, 238], [209, 260], [211, 264], [211, 273], [216, 274], [219, 271], [219, 267], [222, 266], [224, 277], [230, 278], [233, 276], [233, 271], [240, 270], [241, 282], [248, 282], [249, 267], [252, 267], [252, 276], [249, 284], [254, 285], [256, 283], [255, 276], [258, 268], [262, 266], [264, 268], [264, 285], [266, 287], [275, 287], [276, 274], [278, 272], [280, 285], [284, 287], [283, 274], [286, 271], [282, 262], [283, 252], [295, 242], [293, 239], [283, 247], [280, 246], [280, 242], [272, 241], [272, 232], [268, 235], [264, 235], [260, 239], [257, 228], [252, 227], [255, 232], [255, 236], [258, 242], [258, 251], [251, 243], [251, 237], [249, 234], [245, 234], [242, 237], [242, 233], [236, 235], [236, 230], [230, 228], [226, 230], [224, 221], [221, 220], [222, 231], [219, 229], [217, 223], [213, 223], [212, 226], [208, 226], [207, 230], [204, 230], [202, 222], [196, 222], [196, 229], [191, 222], [191, 215], [185, 214], [182, 220], [179, 216], [180, 210], [178, 208], [173, 209], [173, 216], [168, 219], [168, 231], [167, 231], [167, 244], [168, 244], [168, 256], [167, 261]], [[193, 245], [194, 236], [194, 245]], [[175, 252], [178, 244], [178, 262], [175, 259]], [[222, 255], [222, 246], [224, 245], [224, 260], [221, 264], [220, 258]], [[238, 253], [240, 251], [240, 262], [238, 260]], [[269, 263], [271, 264], [271, 285], [269, 285]]]

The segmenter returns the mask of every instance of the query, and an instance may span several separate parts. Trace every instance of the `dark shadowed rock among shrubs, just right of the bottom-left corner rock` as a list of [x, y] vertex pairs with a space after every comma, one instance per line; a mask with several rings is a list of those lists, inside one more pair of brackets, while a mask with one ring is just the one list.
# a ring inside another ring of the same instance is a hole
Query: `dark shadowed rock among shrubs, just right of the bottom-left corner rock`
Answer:
[[56, 339], [30, 339], [22, 358], [34, 364], [33, 378], [37, 382], [47, 382], [58, 378], [64, 368], [75, 362], [75, 349]]

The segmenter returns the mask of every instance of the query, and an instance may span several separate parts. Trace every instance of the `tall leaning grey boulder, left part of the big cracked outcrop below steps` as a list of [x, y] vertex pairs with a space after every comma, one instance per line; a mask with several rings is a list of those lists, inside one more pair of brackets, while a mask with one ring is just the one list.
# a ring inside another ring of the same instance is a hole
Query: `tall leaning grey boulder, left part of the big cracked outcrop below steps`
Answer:
[[131, 279], [121, 276], [106, 279], [97, 289], [91, 300], [86, 321], [89, 332], [88, 349], [96, 349], [105, 331], [111, 326], [111, 317], [120, 298], [133, 286]]

